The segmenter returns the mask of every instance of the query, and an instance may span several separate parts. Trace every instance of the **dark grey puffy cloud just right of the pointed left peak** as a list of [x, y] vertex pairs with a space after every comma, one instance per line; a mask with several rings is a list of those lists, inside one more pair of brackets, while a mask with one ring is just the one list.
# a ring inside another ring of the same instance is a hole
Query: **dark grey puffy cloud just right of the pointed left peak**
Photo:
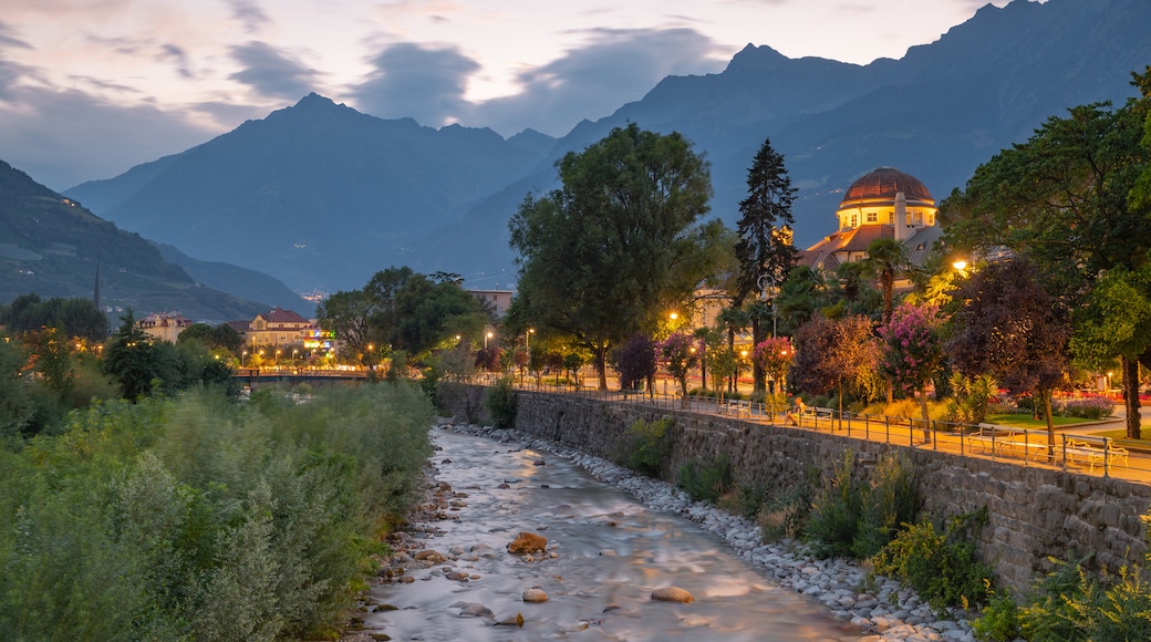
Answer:
[[471, 109], [464, 100], [467, 78], [479, 63], [455, 47], [413, 43], [391, 45], [372, 61], [374, 71], [352, 91], [357, 107], [380, 117], [414, 117], [440, 125]]

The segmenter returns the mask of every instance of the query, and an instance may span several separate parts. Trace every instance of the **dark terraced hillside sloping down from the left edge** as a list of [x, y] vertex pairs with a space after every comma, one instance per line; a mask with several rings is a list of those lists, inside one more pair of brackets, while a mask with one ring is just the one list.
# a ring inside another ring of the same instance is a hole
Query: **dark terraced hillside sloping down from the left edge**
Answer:
[[[193, 320], [251, 319], [269, 306], [196, 282], [139, 235], [125, 232], [73, 199], [0, 161], [0, 303], [94, 293], [137, 316], [178, 311]], [[282, 284], [281, 284], [282, 286]], [[115, 322], [115, 320], [113, 320]]]

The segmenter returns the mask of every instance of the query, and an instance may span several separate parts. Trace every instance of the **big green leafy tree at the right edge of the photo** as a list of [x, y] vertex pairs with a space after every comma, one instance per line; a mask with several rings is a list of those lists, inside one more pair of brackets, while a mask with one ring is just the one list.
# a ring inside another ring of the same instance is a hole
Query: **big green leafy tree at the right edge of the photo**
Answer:
[[[1009, 249], [1035, 265], [1046, 289], [1078, 311], [1076, 319], [1102, 318], [1099, 309], [1087, 309], [1104, 300], [1090, 297], [1096, 281], [1114, 269], [1138, 272], [1151, 250], [1151, 202], [1131, 198], [1151, 167], [1151, 146], [1139, 144], [1146, 102], [1085, 105], [1049, 119], [1027, 143], [980, 166], [966, 191], [947, 199], [944, 213], [954, 221], [948, 236], [984, 253]], [[1089, 329], [1078, 322], [1074, 328], [1076, 335]], [[1125, 350], [1137, 354], [1121, 364], [1127, 429], [1138, 434], [1138, 388], [1126, 383], [1137, 383], [1139, 361], [1151, 365], [1151, 335]]]

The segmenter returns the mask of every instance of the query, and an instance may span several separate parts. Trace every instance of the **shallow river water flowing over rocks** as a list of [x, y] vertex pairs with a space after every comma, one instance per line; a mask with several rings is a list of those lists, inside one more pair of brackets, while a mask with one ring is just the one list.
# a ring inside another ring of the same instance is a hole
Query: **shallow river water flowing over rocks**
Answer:
[[[453, 511], [458, 519], [435, 522], [442, 533], [427, 548], [444, 555], [474, 544], [491, 550], [410, 568], [414, 582], [374, 588], [373, 601], [397, 610], [366, 614], [368, 629], [392, 640], [468, 642], [859, 637], [814, 599], [764, 579], [715, 535], [646, 509], [564, 459], [445, 430], [433, 438], [442, 449], [433, 458], [436, 479], [467, 497]], [[521, 530], [548, 537], [558, 557], [527, 563], [508, 553]], [[479, 579], [450, 580], [444, 568]], [[651, 601], [654, 589], [669, 586], [687, 589], [695, 602]], [[548, 601], [523, 602], [532, 587]], [[460, 616], [460, 603], [481, 604], [494, 618]], [[523, 613], [523, 628], [494, 626], [516, 613]]]

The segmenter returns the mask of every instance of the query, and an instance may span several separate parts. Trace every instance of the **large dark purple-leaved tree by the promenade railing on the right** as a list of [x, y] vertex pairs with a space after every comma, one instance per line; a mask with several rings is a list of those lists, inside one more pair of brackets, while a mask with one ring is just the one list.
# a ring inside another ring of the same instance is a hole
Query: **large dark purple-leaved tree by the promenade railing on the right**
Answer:
[[1072, 327], [1066, 307], [1036, 281], [1026, 260], [992, 263], [960, 289], [958, 328], [947, 343], [951, 362], [968, 377], [982, 374], [1012, 393], [1029, 392], [1043, 404], [1047, 438], [1055, 428], [1051, 392], [1067, 373], [1067, 342]]

